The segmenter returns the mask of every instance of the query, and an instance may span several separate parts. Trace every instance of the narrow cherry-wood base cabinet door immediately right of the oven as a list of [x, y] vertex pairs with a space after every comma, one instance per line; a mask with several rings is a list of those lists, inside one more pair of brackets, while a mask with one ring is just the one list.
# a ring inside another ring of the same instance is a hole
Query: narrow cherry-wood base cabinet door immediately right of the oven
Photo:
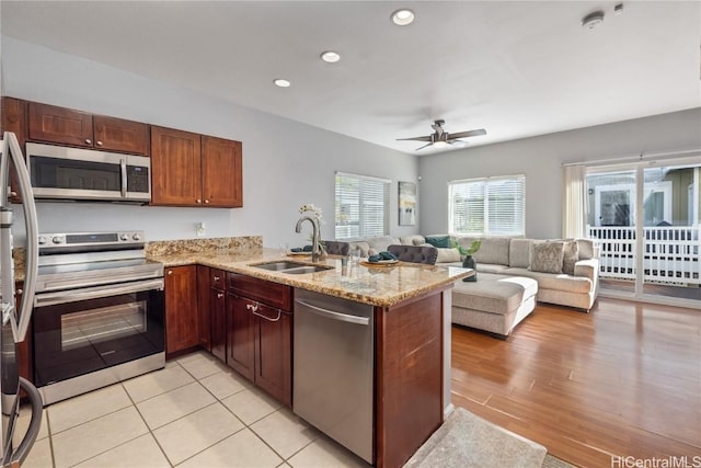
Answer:
[[197, 270], [195, 265], [165, 271], [165, 351], [175, 353], [196, 346]]

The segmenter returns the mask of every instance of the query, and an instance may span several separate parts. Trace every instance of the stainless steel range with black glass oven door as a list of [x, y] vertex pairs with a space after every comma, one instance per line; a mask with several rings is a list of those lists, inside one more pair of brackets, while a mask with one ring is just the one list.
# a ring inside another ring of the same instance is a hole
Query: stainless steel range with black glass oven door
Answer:
[[45, 404], [165, 365], [163, 265], [143, 232], [44, 233], [34, 384]]

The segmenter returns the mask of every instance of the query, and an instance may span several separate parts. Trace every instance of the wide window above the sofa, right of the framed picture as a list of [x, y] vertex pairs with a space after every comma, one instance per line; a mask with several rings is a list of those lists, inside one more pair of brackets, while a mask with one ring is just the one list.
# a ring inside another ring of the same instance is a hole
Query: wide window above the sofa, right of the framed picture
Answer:
[[448, 182], [450, 233], [524, 236], [526, 176]]

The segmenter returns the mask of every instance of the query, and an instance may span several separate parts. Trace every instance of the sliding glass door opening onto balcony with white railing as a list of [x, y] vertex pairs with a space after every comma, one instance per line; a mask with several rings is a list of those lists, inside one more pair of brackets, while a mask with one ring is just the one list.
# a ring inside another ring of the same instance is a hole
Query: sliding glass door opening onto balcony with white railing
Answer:
[[700, 171], [698, 158], [587, 169], [601, 294], [701, 304]]

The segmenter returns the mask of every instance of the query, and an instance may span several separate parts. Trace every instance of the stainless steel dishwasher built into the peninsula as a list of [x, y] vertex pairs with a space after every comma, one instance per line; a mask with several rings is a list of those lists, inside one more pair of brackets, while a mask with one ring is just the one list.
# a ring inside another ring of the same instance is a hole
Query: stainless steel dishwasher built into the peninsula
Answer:
[[372, 463], [372, 306], [295, 289], [292, 411]]

